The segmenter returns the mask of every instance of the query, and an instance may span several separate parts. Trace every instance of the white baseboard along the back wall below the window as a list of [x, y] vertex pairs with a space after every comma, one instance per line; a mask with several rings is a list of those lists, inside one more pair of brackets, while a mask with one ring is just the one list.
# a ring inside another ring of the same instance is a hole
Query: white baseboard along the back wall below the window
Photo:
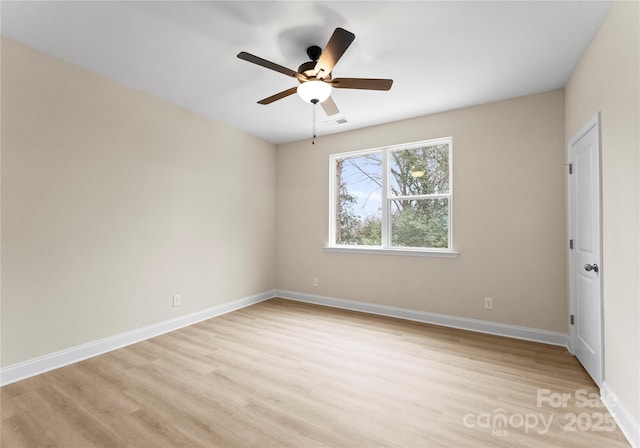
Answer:
[[394, 306], [376, 305], [373, 303], [356, 302], [353, 300], [337, 299], [334, 297], [318, 296], [293, 291], [283, 291], [279, 289], [276, 290], [276, 296], [298, 302], [314, 303], [316, 305], [325, 305], [352, 311], [362, 311], [364, 313], [397, 317], [400, 319], [441, 325], [444, 327], [476, 331], [478, 333], [488, 333], [516, 339], [524, 339], [527, 341], [542, 342], [544, 344], [560, 345], [562, 347], [567, 347], [568, 344], [568, 335], [566, 333], [556, 331], [519, 327], [516, 325], [468, 319], [465, 317], [447, 316], [444, 314], [428, 313], [425, 311], [416, 311]]

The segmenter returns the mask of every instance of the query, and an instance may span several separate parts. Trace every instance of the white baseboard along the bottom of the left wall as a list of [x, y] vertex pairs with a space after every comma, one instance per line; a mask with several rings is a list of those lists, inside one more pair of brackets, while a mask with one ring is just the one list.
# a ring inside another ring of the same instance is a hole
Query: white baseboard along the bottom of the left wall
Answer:
[[0, 369], [0, 386], [15, 383], [50, 370], [58, 369], [75, 362], [79, 362], [106, 352], [116, 350], [136, 342], [144, 341], [188, 325], [211, 319], [231, 311], [244, 308], [264, 300], [273, 298], [274, 291], [267, 291], [255, 296], [245, 297], [232, 302], [217, 305], [196, 313], [180, 316], [157, 324], [138, 328], [136, 330], [120, 333], [115, 336], [100, 339], [98, 341], [71, 347], [66, 350], [51, 353], [49, 355], [30, 359], [28, 361], [12, 364]]

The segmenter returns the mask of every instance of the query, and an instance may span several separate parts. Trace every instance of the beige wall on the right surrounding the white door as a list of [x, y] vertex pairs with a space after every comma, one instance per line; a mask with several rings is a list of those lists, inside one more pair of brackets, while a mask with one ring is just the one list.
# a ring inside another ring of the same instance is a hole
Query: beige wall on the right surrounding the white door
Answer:
[[640, 4], [618, 2], [566, 88], [566, 138], [602, 118], [605, 381], [640, 425]]

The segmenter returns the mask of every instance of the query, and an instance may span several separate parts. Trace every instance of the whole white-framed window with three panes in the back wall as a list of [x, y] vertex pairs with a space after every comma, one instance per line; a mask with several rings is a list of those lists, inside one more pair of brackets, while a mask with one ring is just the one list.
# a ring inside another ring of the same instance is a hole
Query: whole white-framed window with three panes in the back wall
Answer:
[[451, 253], [452, 138], [331, 156], [331, 248]]

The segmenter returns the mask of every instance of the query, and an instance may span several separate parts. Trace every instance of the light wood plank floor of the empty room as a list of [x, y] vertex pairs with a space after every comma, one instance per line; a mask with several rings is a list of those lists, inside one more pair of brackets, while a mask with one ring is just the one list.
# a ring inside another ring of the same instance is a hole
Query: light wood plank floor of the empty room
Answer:
[[4, 448], [628, 446], [564, 348], [281, 299], [0, 393]]

